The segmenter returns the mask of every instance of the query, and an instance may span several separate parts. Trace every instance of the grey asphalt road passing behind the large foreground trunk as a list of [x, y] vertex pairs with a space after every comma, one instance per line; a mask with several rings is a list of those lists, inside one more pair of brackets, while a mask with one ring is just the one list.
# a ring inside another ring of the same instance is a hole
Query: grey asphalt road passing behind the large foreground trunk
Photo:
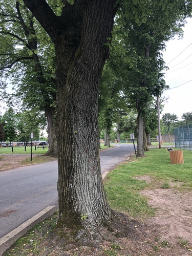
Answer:
[[[101, 173], [133, 152], [132, 144], [101, 151]], [[47, 206], [58, 205], [57, 177], [57, 161], [0, 172], [0, 238]]]

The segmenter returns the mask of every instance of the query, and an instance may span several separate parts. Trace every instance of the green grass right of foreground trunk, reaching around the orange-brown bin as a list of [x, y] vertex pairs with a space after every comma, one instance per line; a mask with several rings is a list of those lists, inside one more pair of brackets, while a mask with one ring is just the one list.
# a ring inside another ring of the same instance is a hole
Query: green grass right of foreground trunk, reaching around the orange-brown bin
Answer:
[[[147, 205], [147, 198], [140, 194], [140, 190], [154, 189], [157, 183], [159, 188], [170, 188], [170, 182], [177, 182], [175, 189], [178, 191], [191, 190], [191, 155], [190, 151], [183, 150], [184, 164], [170, 164], [169, 152], [165, 148], [152, 148], [144, 158], [134, 158], [134, 162], [118, 166], [104, 180], [111, 207], [134, 218], [153, 216], [155, 209]], [[138, 180], [141, 176], [151, 177], [151, 181]]]

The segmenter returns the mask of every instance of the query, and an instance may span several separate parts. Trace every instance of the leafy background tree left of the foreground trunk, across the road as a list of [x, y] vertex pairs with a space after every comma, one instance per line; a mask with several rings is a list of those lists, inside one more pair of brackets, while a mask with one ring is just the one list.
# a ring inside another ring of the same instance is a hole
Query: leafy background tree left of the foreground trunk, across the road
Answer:
[[11, 79], [16, 93], [7, 97], [9, 104], [16, 97], [23, 109], [45, 112], [50, 144], [46, 155], [56, 156], [54, 115], [57, 83], [54, 77], [54, 44], [22, 1], [0, 1], [0, 4], [2, 88], [6, 87], [6, 78]]

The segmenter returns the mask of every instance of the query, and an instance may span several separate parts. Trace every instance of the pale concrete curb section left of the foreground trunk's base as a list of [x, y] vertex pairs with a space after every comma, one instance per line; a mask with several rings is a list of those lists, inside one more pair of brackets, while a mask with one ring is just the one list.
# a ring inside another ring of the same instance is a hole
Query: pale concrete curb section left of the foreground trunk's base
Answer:
[[29, 229], [34, 227], [39, 222], [44, 221], [49, 216], [53, 215], [56, 210], [56, 206], [48, 206], [44, 210], [41, 210], [38, 214], [33, 216], [28, 221], [24, 222], [22, 225], [18, 226], [6, 236], [0, 239], [0, 256], [16, 242], [20, 237], [27, 233]]

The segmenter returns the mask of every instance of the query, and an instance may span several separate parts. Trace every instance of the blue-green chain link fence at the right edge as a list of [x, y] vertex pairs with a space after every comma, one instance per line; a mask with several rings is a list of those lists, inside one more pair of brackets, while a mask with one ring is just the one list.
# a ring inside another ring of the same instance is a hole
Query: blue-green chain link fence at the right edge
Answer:
[[174, 133], [175, 147], [192, 150], [192, 124], [178, 127]]

